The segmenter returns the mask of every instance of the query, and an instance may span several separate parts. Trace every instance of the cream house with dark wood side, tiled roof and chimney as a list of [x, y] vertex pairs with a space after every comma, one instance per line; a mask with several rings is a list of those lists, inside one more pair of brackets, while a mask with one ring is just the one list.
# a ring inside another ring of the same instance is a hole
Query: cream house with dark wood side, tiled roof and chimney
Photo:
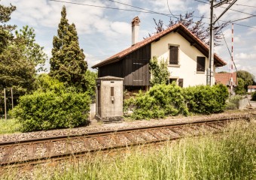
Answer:
[[[158, 34], [138, 42], [139, 17], [132, 21], [132, 46], [93, 65], [98, 76], [122, 77], [128, 91], [148, 90], [151, 74], [149, 61], [153, 56], [169, 62], [169, 83], [179, 86], [206, 85], [206, 71], [209, 67], [209, 48], [182, 24], [176, 24]], [[226, 63], [214, 55], [215, 67]]]

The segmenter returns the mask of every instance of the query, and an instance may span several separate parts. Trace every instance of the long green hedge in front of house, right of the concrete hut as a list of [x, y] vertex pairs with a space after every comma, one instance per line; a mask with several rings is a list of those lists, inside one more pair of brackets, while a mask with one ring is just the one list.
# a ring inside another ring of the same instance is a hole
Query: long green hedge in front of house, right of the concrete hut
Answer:
[[132, 107], [132, 118], [163, 118], [166, 115], [189, 113], [220, 113], [226, 106], [228, 91], [225, 86], [194, 86], [181, 89], [175, 84], [157, 85], [136, 98], [124, 101], [123, 110]]

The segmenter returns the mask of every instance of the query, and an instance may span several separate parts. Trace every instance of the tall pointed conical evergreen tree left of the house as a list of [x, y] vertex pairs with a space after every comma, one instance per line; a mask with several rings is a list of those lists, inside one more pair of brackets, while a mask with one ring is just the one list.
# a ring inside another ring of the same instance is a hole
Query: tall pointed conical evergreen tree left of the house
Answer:
[[53, 37], [52, 58], [50, 58], [50, 76], [68, 86], [86, 89], [84, 74], [87, 62], [83, 49], [78, 43], [75, 24], [66, 19], [66, 7], [62, 7], [57, 36]]

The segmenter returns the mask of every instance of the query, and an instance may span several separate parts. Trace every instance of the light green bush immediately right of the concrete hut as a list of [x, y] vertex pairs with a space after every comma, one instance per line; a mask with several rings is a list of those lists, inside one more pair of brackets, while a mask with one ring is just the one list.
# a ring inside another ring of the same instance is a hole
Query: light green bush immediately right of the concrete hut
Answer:
[[163, 118], [166, 115], [187, 115], [182, 89], [175, 85], [157, 85], [136, 98], [124, 102], [124, 110], [133, 107], [132, 118]]

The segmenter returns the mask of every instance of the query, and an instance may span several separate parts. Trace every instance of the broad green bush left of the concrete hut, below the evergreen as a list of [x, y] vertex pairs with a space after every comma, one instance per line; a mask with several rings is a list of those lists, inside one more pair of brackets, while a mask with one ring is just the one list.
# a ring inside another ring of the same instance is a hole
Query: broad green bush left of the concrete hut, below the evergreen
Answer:
[[22, 131], [78, 127], [87, 124], [90, 97], [82, 93], [34, 92], [20, 98], [12, 114]]

